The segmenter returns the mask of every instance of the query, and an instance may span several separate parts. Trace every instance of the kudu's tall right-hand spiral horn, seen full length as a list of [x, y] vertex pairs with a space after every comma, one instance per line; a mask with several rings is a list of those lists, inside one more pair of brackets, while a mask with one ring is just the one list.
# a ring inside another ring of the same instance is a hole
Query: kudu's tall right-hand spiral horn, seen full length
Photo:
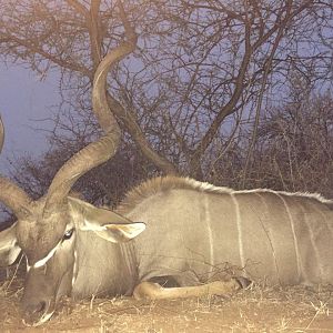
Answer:
[[109, 52], [99, 64], [93, 80], [92, 108], [105, 135], [90, 143], [75, 153], [56, 174], [47, 195], [44, 213], [61, 204], [74, 182], [85, 172], [111, 159], [118, 149], [121, 130], [107, 102], [107, 77], [110, 67], [131, 53], [137, 46], [137, 38], [122, 42]]

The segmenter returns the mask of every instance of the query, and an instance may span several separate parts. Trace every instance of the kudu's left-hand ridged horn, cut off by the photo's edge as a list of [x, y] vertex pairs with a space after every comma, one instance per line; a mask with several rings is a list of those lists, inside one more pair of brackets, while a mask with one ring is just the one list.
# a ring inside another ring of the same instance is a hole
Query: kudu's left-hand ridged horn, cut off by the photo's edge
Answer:
[[[4, 141], [4, 127], [0, 117], [0, 153]], [[27, 216], [31, 199], [29, 195], [12, 183], [9, 179], [0, 175], [0, 201], [3, 202], [18, 219]]]

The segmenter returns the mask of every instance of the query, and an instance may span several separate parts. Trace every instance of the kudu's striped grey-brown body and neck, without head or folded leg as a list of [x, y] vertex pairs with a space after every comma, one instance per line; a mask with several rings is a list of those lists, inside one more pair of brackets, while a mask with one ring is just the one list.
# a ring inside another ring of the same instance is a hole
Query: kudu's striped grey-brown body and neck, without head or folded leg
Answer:
[[[242, 215], [243, 259], [232, 195]], [[296, 243], [284, 201], [295, 213]], [[206, 203], [212, 211], [205, 211]], [[332, 283], [330, 203], [316, 194], [233, 191], [174, 176], [149, 180], [117, 208], [128, 219], [147, 223], [147, 230], [134, 240], [113, 244], [94, 233], [78, 232], [78, 260], [83, 269], [73, 296], [131, 294], [139, 283], [157, 278], [175, 281], [179, 286], [201, 285], [225, 278], [231, 272], [223, 271], [225, 268], [269, 284]], [[315, 232], [320, 228], [315, 253], [309, 229]], [[295, 246], [300, 248], [299, 263]]]

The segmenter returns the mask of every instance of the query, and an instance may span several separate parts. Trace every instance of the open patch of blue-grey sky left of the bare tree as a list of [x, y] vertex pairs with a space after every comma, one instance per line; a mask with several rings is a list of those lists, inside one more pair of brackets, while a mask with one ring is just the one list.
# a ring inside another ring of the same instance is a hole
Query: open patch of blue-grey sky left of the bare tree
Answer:
[[0, 170], [6, 171], [7, 158], [22, 153], [40, 153], [46, 149], [44, 133], [38, 129], [50, 125], [43, 120], [59, 101], [57, 79], [40, 81], [37, 74], [18, 65], [0, 64], [0, 114], [6, 139]]

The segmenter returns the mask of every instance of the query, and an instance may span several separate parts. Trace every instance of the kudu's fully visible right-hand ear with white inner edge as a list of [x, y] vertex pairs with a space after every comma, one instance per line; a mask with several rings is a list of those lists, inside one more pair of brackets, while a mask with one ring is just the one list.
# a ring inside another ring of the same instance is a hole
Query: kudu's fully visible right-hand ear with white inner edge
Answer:
[[69, 196], [70, 206], [79, 214], [79, 228], [83, 231], [93, 231], [102, 239], [119, 243], [127, 242], [139, 235], [144, 229], [143, 222], [132, 222], [108, 209], [94, 205]]

